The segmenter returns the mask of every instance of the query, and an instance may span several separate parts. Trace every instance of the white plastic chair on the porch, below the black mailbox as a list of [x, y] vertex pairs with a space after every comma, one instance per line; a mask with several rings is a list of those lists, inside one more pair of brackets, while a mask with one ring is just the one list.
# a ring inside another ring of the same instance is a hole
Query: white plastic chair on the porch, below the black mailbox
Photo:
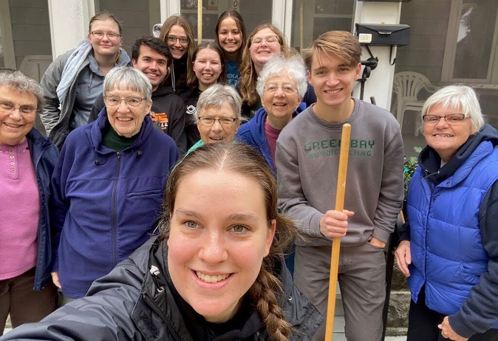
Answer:
[[[396, 118], [399, 122], [399, 126], [403, 126], [403, 115], [407, 110], [422, 112], [422, 107], [425, 101], [420, 101], [417, 98], [418, 93], [425, 89], [427, 93], [432, 94], [436, 91], [436, 87], [431, 84], [431, 82], [422, 74], [403, 71], [394, 74], [393, 80], [393, 92], [397, 95], [397, 106], [393, 106], [396, 109]], [[415, 119], [415, 136], [418, 136], [418, 124], [420, 118]]]

